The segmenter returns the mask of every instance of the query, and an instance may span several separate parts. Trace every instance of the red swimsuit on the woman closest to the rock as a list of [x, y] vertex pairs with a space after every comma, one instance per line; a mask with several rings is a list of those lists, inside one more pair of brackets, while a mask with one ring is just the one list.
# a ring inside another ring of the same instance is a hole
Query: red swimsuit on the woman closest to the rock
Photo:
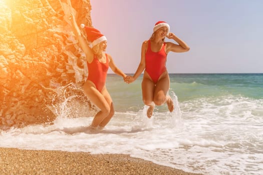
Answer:
[[99, 91], [101, 91], [102, 88], [105, 86], [107, 71], [109, 68], [108, 55], [107, 54], [105, 55], [106, 55], [106, 63], [101, 63], [98, 60], [97, 56], [95, 56], [95, 54], [91, 63], [87, 61], [88, 70], [89, 70], [87, 80], [92, 81]]

